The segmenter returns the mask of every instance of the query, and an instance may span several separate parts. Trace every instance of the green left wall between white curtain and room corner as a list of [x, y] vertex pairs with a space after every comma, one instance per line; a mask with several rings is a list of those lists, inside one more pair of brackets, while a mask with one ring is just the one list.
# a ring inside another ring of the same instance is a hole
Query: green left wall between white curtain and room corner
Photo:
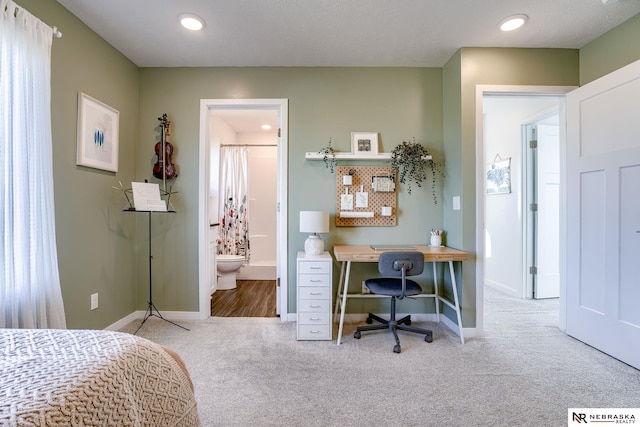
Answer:
[[[138, 143], [138, 68], [56, 1], [17, 0], [63, 33], [53, 40], [51, 111], [56, 239], [67, 327], [101, 329], [136, 308], [134, 218], [111, 187], [130, 182]], [[76, 166], [78, 92], [120, 112], [119, 171]], [[145, 276], [146, 277], [146, 276]], [[99, 308], [90, 310], [90, 295]]]

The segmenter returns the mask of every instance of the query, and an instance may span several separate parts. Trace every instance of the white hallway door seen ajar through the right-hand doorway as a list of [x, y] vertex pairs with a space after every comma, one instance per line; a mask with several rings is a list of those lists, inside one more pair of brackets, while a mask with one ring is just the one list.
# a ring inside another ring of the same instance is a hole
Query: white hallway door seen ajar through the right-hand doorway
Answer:
[[534, 298], [560, 296], [560, 132], [537, 126], [536, 274]]

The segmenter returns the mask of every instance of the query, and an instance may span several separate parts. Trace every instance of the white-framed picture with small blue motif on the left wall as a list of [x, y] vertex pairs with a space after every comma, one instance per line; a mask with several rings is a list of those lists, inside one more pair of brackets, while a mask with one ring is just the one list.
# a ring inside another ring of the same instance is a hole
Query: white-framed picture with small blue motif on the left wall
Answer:
[[79, 92], [76, 164], [118, 172], [119, 126], [118, 110]]

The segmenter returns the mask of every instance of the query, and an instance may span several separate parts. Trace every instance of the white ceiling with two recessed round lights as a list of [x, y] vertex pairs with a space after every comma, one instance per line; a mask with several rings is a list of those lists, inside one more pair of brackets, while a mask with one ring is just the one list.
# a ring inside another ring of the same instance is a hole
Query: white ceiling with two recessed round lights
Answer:
[[[58, 2], [140, 67], [442, 67], [460, 47], [581, 48], [640, 13], [640, 0]], [[183, 29], [181, 13], [206, 27]], [[518, 13], [527, 26], [498, 30]]]

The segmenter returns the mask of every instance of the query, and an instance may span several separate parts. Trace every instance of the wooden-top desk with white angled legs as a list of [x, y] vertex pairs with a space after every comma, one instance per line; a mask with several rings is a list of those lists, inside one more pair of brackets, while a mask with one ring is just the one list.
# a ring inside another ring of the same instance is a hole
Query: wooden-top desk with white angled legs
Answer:
[[[424, 254], [424, 261], [433, 263], [433, 286], [434, 293], [433, 294], [420, 294], [418, 296], [423, 296], [427, 298], [435, 298], [436, 299], [436, 316], [438, 319], [440, 318], [440, 304], [438, 301], [442, 301], [444, 304], [448, 305], [452, 309], [456, 311], [456, 315], [458, 318], [458, 331], [460, 335], [460, 341], [464, 344], [464, 336], [462, 334], [462, 318], [460, 315], [460, 302], [458, 299], [458, 286], [456, 283], [456, 276], [453, 270], [453, 262], [454, 261], [465, 261], [468, 259], [468, 254], [463, 251], [459, 251], [457, 249], [447, 248], [445, 246], [441, 247], [433, 247], [426, 245], [411, 245], [413, 248], [404, 249], [410, 251], [418, 251]], [[387, 249], [387, 251], [392, 251], [396, 249]], [[379, 295], [371, 295], [371, 294], [348, 294], [347, 291], [349, 289], [349, 274], [351, 272], [351, 263], [352, 262], [378, 262], [380, 258], [380, 254], [385, 252], [385, 250], [374, 250], [371, 246], [361, 245], [361, 246], [351, 246], [351, 245], [337, 245], [333, 247], [333, 255], [336, 258], [336, 261], [342, 262], [342, 267], [340, 268], [340, 280], [338, 281], [338, 294], [336, 295], [336, 306], [334, 316], [338, 314], [338, 307], [340, 307], [340, 326], [338, 327], [338, 340], [337, 344], [340, 345], [342, 340], [342, 328], [344, 325], [344, 314], [345, 308], [347, 306], [347, 298], [380, 298], [382, 296]], [[453, 288], [453, 303], [438, 294], [438, 276], [436, 274], [436, 263], [437, 262], [446, 262], [449, 264], [449, 274], [451, 275], [451, 284]], [[342, 301], [340, 299], [342, 298]]]

